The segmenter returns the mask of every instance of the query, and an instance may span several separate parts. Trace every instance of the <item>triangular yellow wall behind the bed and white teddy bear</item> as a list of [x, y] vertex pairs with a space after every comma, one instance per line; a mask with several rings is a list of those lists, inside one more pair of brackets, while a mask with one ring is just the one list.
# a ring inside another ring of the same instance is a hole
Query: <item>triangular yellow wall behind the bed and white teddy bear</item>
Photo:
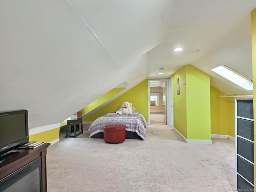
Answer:
[[135, 112], [142, 113], [148, 122], [148, 80], [143, 80], [112, 102], [83, 118], [83, 121], [92, 122], [106, 113], [116, 112], [118, 106], [122, 106], [124, 101], [132, 103], [136, 108]]

